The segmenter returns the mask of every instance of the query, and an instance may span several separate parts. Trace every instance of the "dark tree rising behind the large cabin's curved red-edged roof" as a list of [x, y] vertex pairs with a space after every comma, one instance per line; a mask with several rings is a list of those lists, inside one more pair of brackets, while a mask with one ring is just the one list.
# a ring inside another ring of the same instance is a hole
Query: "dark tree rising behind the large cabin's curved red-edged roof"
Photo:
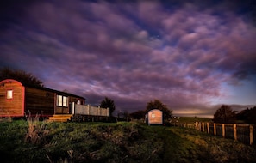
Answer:
[[23, 70], [13, 70], [9, 68], [0, 69], [0, 81], [4, 79], [14, 79], [27, 86], [44, 87], [41, 80]]

